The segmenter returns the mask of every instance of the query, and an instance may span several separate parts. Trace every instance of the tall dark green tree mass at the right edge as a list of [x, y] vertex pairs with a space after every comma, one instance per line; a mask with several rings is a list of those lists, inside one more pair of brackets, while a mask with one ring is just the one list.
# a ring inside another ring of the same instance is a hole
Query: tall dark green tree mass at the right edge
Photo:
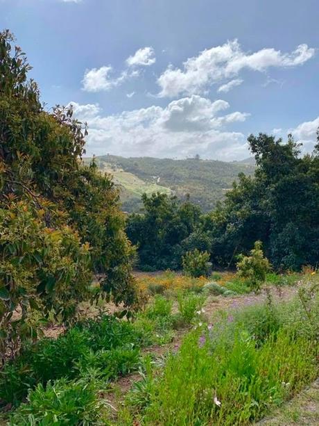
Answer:
[[209, 213], [202, 231], [212, 238], [212, 259], [234, 263], [261, 240], [275, 269], [315, 266], [319, 254], [319, 156], [300, 156], [287, 143], [260, 133], [248, 138], [257, 169], [241, 175], [223, 205]]

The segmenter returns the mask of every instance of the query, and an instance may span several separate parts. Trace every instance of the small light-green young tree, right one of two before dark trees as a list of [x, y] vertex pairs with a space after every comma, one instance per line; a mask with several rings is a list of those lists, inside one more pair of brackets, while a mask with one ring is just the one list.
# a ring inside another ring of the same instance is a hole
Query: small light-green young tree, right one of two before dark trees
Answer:
[[266, 279], [266, 273], [270, 270], [270, 263], [261, 249], [261, 241], [256, 241], [254, 248], [250, 250], [250, 256], [238, 256], [236, 263], [239, 277], [243, 277], [255, 292], [260, 290], [261, 284]]

